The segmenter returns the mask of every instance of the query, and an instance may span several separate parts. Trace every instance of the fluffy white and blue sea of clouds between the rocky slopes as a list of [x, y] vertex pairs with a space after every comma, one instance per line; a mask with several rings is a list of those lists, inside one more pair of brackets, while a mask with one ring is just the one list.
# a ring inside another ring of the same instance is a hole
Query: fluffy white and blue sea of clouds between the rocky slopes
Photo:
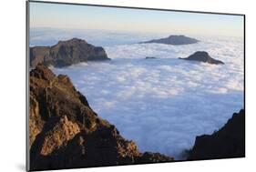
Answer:
[[[242, 39], [195, 38], [200, 43], [187, 46], [113, 44], [111, 39], [104, 43], [111, 61], [53, 70], [69, 76], [98, 116], [140, 151], [182, 159], [196, 136], [218, 130], [243, 108], [244, 99]], [[196, 51], [207, 51], [225, 65], [178, 59]]]

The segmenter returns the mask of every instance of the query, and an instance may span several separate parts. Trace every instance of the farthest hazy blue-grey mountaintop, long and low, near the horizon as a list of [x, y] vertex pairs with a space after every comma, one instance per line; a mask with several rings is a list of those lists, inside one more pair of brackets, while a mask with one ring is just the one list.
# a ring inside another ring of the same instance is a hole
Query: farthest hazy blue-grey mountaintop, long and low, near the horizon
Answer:
[[185, 35], [169, 35], [169, 37], [166, 37], [166, 38], [152, 39], [150, 41], [141, 42], [140, 44], [159, 43], [159, 44], [179, 46], [179, 45], [195, 44], [198, 42], [199, 40], [185, 36]]

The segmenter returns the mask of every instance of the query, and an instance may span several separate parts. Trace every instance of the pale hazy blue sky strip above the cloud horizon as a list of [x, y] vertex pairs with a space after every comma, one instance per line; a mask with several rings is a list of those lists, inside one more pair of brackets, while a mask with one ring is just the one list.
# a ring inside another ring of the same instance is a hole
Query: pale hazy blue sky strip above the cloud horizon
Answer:
[[243, 36], [243, 17], [30, 2], [30, 27]]

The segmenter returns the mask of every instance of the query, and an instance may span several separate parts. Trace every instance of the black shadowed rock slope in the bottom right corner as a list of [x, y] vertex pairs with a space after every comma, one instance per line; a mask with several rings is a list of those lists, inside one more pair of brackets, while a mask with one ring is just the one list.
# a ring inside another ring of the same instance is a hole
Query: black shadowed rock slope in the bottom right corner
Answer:
[[196, 137], [189, 160], [245, 157], [245, 115], [241, 109], [212, 135]]

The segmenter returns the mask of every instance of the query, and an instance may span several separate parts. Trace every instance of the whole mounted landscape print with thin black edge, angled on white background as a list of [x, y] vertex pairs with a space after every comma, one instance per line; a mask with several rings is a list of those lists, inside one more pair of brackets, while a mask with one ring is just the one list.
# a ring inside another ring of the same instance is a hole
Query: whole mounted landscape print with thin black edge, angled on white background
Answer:
[[245, 157], [245, 15], [26, 2], [26, 169]]

